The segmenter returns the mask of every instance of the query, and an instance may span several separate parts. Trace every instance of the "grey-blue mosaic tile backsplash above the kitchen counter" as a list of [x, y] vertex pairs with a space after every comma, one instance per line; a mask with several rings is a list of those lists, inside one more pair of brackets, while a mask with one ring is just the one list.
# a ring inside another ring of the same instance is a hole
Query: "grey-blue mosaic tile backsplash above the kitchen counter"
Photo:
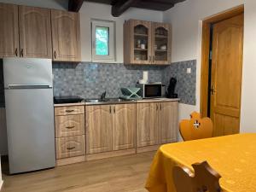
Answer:
[[[190, 74], [186, 73], [187, 67], [191, 68]], [[119, 97], [121, 87], [135, 86], [137, 80], [143, 78], [143, 71], [148, 71], [150, 82], [169, 84], [171, 77], [177, 78], [176, 92], [181, 102], [195, 105], [195, 67], [195, 61], [173, 63], [168, 67], [54, 63], [54, 95], [97, 98], [106, 90], [107, 97]]]

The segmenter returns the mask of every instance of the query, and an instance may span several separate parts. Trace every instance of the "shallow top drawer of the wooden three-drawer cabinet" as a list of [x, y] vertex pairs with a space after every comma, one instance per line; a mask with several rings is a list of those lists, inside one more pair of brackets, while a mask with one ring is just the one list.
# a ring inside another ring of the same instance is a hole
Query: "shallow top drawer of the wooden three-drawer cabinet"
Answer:
[[55, 115], [84, 114], [84, 106], [55, 108]]

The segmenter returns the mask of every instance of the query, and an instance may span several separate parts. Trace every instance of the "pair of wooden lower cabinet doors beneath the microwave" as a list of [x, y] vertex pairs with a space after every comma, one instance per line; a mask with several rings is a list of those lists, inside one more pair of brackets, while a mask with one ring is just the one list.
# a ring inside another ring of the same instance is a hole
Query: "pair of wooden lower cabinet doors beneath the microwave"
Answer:
[[137, 103], [137, 148], [177, 141], [177, 102]]

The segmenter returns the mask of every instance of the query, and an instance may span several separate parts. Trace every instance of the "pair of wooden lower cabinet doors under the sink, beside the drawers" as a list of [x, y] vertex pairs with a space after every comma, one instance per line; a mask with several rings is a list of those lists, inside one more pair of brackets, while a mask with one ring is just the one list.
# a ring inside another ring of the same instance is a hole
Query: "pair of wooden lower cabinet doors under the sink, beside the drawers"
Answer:
[[135, 148], [135, 104], [86, 106], [86, 154]]

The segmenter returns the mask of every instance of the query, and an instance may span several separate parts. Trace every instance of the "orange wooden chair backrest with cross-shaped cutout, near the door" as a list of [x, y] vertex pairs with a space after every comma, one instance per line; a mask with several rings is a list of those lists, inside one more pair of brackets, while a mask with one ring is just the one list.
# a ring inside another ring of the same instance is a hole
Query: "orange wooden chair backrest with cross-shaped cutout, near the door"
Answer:
[[212, 137], [212, 120], [202, 118], [200, 113], [190, 114], [191, 119], [184, 119], [179, 124], [179, 131], [184, 141]]

